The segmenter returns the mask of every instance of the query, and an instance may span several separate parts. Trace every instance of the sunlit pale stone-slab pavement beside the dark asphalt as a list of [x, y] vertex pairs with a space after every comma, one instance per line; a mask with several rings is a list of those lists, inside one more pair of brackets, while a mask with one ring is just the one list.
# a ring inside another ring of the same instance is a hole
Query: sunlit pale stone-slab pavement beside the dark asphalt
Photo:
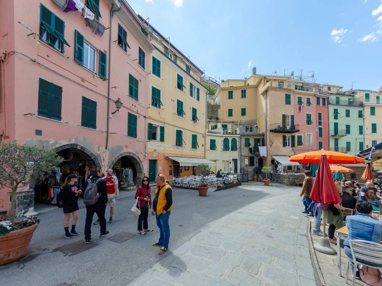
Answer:
[[241, 186], [269, 196], [207, 224], [127, 285], [316, 286], [301, 187], [271, 185]]

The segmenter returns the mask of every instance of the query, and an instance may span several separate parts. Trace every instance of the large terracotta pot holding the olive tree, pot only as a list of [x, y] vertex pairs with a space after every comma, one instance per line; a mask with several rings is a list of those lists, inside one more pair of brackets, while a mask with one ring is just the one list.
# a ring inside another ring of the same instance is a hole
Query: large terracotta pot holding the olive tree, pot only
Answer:
[[16, 261], [26, 255], [33, 232], [38, 226], [36, 223], [0, 236], [0, 265]]

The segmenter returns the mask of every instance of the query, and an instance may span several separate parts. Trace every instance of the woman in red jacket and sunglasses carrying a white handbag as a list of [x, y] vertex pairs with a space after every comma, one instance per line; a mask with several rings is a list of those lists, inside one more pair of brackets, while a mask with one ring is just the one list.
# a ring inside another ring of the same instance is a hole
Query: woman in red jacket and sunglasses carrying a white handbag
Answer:
[[[146, 231], [152, 231], [147, 223], [147, 217], [149, 216], [149, 208], [151, 209], [151, 188], [149, 186], [149, 177], [143, 177], [142, 185], [137, 188], [135, 193], [135, 199], [138, 198], [139, 208], [141, 214], [138, 217], [138, 231], [141, 235], [145, 235]], [[137, 206], [138, 207], [138, 206]], [[143, 223], [143, 228], [142, 228]]]

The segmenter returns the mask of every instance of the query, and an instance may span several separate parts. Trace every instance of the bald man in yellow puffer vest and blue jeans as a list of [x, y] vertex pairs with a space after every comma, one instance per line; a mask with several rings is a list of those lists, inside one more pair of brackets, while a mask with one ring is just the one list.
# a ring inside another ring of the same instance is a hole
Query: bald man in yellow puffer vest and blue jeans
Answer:
[[153, 246], [162, 246], [158, 253], [163, 254], [168, 249], [168, 242], [170, 241], [170, 225], [168, 219], [172, 209], [172, 188], [165, 181], [165, 176], [158, 174], [155, 177], [154, 200], [152, 201], [151, 214], [154, 215], [157, 220], [157, 226], [159, 228], [159, 240], [154, 242]]

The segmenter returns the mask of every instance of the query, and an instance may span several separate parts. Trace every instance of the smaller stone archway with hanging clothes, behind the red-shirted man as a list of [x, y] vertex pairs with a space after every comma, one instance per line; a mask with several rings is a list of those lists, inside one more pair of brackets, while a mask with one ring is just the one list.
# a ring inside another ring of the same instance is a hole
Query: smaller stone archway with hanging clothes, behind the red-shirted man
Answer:
[[136, 154], [125, 152], [119, 154], [109, 164], [118, 178], [120, 190], [131, 189], [141, 184], [144, 169], [141, 160]]

